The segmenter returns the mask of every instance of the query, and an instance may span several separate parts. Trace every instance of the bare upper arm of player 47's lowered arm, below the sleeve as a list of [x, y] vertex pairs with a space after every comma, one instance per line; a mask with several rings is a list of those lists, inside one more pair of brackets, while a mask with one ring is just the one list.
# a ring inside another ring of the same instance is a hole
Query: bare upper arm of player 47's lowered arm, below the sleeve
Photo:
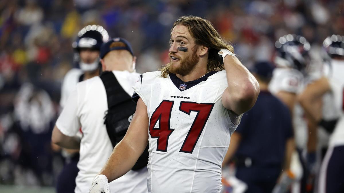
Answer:
[[130, 144], [133, 149], [142, 153], [148, 143], [148, 122], [147, 106], [139, 98], [135, 114], [123, 138], [123, 142]]

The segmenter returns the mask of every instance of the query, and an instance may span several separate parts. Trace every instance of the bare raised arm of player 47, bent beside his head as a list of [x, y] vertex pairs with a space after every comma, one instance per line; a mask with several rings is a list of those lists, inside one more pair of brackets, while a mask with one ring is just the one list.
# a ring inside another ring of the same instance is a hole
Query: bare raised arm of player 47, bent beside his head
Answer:
[[259, 94], [259, 84], [249, 70], [231, 53], [227, 56], [220, 50], [227, 74], [228, 88], [223, 92], [222, 104], [236, 114], [242, 114], [255, 104]]

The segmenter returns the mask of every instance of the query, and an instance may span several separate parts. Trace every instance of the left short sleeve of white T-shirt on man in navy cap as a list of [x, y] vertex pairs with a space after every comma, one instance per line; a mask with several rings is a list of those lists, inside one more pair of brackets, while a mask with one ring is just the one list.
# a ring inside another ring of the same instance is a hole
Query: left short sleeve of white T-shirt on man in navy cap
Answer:
[[69, 94], [68, 100], [56, 121], [56, 127], [64, 135], [75, 136], [78, 133], [81, 124], [77, 115], [77, 109], [77, 90], [74, 90]]

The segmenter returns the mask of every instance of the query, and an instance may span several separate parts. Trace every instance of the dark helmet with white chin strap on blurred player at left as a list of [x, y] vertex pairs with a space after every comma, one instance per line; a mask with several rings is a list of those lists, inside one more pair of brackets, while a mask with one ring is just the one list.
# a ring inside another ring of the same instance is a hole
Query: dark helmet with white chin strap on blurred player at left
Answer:
[[[107, 42], [109, 39], [109, 35], [107, 31], [100, 25], [88, 25], [81, 29], [78, 33], [77, 39], [73, 42], [73, 48], [77, 57], [75, 57], [76, 62], [79, 64], [80, 69], [84, 72], [87, 71], [94, 71], [97, 70], [100, 66], [99, 62], [99, 51], [100, 46], [104, 42]], [[87, 58], [93, 56], [92, 53], [94, 51], [97, 52], [97, 57], [93, 61], [82, 61], [82, 57], [80, 56], [80, 52], [89, 51], [89, 55]]]

